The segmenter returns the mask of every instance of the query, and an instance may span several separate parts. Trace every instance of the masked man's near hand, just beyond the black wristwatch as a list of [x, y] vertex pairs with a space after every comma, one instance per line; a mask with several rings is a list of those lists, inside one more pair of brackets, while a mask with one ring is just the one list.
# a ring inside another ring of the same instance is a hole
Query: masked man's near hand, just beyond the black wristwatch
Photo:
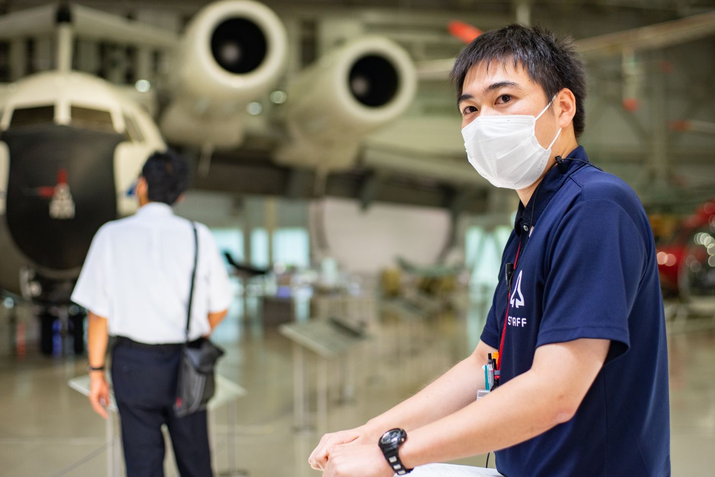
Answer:
[[395, 474], [378, 443], [332, 449], [323, 477], [392, 477]]

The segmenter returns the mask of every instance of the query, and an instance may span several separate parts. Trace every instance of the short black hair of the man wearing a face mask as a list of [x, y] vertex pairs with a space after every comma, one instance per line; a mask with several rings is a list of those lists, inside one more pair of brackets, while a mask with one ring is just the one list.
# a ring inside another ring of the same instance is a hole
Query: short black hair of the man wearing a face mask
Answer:
[[563, 88], [571, 89], [576, 97], [573, 132], [579, 137], [586, 126], [586, 73], [570, 36], [557, 37], [538, 26], [518, 24], [480, 34], [460, 52], [450, 73], [457, 97], [462, 95], [464, 79], [475, 64], [487, 62], [488, 67], [492, 61], [506, 64], [510, 60], [515, 68], [526, 69], [547, 100]]

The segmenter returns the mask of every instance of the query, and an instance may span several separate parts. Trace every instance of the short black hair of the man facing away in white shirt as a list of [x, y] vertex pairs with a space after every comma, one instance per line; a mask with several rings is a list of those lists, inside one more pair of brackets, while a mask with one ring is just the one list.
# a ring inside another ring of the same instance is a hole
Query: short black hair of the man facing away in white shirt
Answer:
[[189, 166], [172, 149], [154, 152], [142, 167], [142, 177], [147, 181], [150, 201], [174, 205], [189, 187]]

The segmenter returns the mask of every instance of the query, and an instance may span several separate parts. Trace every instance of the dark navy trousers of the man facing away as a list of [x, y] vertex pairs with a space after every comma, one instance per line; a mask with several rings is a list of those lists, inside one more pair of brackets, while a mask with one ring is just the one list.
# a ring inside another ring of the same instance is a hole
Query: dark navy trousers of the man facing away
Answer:
[[164, 436], [169, 428], [182, 477], [210, 477], [211, 453], [206, 411], [177, 418], [180, 347], [132, 346], [117, 342], [112, 350], [114, 397], [122, 422], [127, 477], [164, 476]]

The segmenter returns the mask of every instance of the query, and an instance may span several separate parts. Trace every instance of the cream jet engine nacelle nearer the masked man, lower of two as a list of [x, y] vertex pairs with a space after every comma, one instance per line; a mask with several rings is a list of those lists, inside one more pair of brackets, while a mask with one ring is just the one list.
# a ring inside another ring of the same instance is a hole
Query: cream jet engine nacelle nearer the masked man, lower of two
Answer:
[[292, 82], [282, 112], [292, 143], [277, 149], [275, 159], [325, 171], [349, 168], [365, 134], [402, 114], [416, 89], [413, 61], [394, 41], [348, 41]]

